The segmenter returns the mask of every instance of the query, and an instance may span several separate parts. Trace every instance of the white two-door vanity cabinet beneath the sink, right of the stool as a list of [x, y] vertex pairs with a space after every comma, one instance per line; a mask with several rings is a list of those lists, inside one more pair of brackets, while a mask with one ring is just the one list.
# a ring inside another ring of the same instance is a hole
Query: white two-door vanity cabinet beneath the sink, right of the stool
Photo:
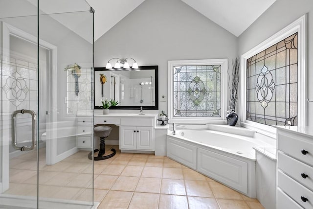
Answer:
[[120, 149], [154, 151], [155, 117], [121, 118]]

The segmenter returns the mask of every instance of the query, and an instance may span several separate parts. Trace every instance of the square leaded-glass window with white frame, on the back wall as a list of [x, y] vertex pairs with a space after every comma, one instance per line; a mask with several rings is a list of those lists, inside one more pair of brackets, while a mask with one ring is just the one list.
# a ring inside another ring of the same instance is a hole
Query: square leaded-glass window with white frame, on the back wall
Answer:
[[169, 61], [170, 119], [224, 119], [225, 69], [226, 59]]

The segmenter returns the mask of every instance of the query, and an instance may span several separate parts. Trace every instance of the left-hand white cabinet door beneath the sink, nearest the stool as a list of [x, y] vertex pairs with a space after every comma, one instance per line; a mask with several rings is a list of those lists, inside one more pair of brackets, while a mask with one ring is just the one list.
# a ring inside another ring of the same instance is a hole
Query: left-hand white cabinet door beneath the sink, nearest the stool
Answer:
[[136, 127], [121, 126], [121, 134], [121, 149], [136, 149]]

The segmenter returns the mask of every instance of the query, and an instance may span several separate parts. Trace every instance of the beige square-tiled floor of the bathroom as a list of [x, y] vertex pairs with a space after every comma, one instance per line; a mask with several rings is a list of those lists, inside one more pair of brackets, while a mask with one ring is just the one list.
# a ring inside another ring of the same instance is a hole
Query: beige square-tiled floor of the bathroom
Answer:
[[[256, 199], [240, 194], [167, 157], [120, 153], [94, 162], [94, 201], [99, 209], [264, 209]], [[39, 151], [41, 197], [90, 201], [91, 164], [87, 151], [60, 163], [45, 165]], [[5, 193], [36, 195], [36, 156], [10, 160], [10, 189]]]

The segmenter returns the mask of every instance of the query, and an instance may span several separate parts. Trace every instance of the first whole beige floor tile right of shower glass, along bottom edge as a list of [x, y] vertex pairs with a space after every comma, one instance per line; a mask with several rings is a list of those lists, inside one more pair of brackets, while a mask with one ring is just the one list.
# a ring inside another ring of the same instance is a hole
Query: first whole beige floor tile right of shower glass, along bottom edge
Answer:
[[132, 196], [133, 192], [110, 190], [100, 203], [98, 209], [127, 209]]

